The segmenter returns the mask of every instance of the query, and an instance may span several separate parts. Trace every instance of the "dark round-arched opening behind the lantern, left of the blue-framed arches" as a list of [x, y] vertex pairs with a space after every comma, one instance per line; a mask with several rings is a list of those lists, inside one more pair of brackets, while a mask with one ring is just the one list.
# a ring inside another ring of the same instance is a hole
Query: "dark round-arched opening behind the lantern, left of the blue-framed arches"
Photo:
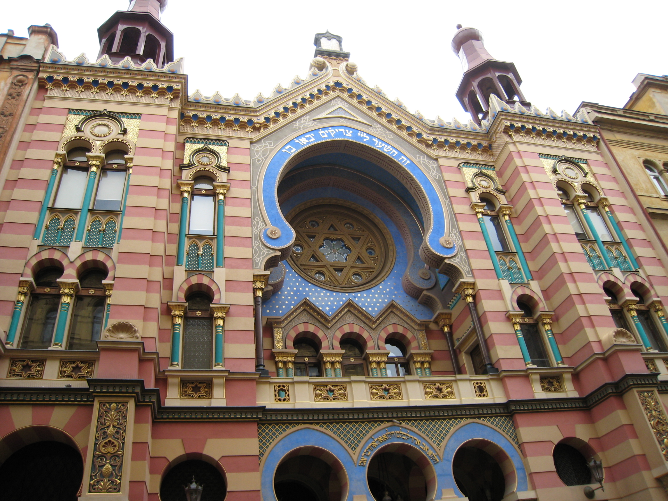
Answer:
[[216, 466], [202, 460], [185, 460], [174, 465], [162, 478], [161, 501], [186, 501], [184, 486], [192, 479], [202, 486], [200, 501], [222, 501], [227, 494], [225, 478]]

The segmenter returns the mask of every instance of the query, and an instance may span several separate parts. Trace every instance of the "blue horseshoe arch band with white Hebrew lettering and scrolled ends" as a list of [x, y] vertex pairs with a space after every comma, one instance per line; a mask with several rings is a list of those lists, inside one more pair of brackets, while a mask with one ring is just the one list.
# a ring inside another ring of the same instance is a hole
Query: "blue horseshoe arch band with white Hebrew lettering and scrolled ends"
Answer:
[[[420, 255], [428, 265], [438, 267], [459, 251], [454, 242], [441, 240], [450, 237], [453, 228], [448, 221], [446, 196], [435, 182], [440, 179], [438, 164], [430, 164], [428, 176], [398, 146], [349, 126], [319, 128], [284, 140], [266, 164], [263, 162], [258, 188], [263, 202], [260, 210], [268, 227], [261, 230], [260, 236], [267, 247], [281, 251], [285, 257], [295, 239], [295, 231], [283, 215], [277, 198], [281, 179], [299, 162], [325, 152], [346, 152], [370, 160], [405, 186], [417, 202], [424, 221], [425, 238]], [[444, 243], [451, 246], [446, 247]]]

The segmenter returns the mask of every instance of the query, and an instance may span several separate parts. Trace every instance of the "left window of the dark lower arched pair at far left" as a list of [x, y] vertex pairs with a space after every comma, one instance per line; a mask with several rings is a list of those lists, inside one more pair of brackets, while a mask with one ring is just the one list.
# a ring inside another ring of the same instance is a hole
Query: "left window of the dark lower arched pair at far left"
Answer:
[[60, 288], [57, 279], [63, 269], [47, 267], [35, 275], [35, 293], [30, 297], [21, 348], [46, 349], [51, 346], [55, 319], [60, 308]]

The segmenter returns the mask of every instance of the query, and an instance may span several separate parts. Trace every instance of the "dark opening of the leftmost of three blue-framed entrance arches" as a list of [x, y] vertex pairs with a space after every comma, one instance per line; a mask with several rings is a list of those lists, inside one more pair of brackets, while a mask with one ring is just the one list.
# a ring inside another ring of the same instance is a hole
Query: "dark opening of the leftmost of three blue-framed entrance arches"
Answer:
[[274, 492], [278, 501], [343, 501], [348, 478], [331, 452], [299, 448], [286, 454], [276, 468]]

